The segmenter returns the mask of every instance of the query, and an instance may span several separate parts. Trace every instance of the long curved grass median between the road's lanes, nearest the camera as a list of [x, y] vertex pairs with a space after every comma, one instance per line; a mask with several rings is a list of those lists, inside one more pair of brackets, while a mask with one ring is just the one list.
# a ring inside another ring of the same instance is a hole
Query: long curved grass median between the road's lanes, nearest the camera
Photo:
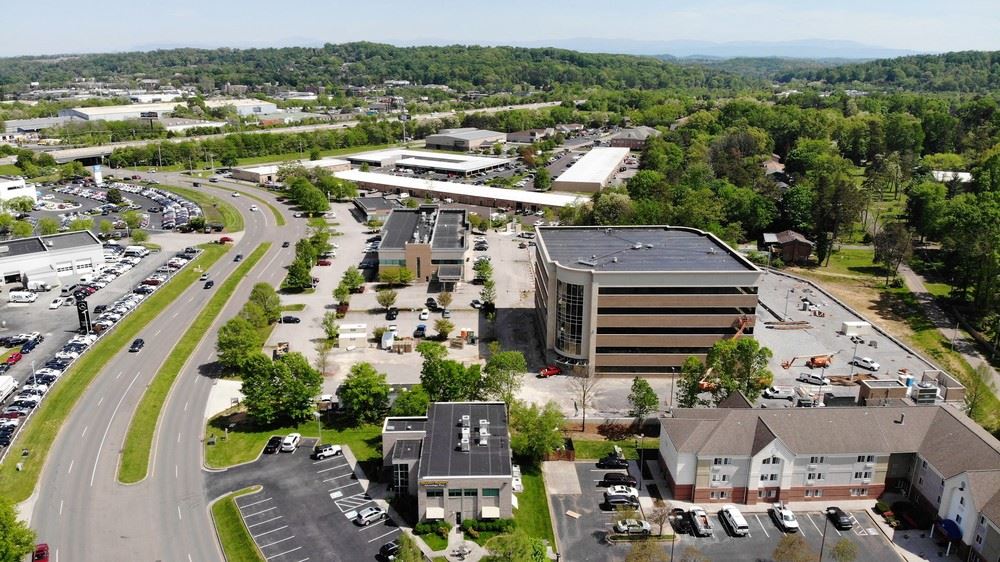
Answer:
[[160, 371], [153, 378], [153, 382], [146, 388], [125, 437], [121, 464], [118, 466], [119, 482], [132, 484], [146, 477], [156, 423], [160, 418], [160, 412], [170, 394], [174, 380], [177, 379], [188, 358], [194, 353], [198, 343], [208, 334], [208, 329], [225, 308], [240, 281], [246, 277], [247, 273], [260, 261], [270, 247], [270, 242], [257, 246], [247, 259], [243, 260], [243, 263], [226, 278], [219, 290], [205, 305], [205, 308], [198, 312], [191, 327], [174, 346], [170, 356], [167, 357], [163, 366], [160, 367]]

